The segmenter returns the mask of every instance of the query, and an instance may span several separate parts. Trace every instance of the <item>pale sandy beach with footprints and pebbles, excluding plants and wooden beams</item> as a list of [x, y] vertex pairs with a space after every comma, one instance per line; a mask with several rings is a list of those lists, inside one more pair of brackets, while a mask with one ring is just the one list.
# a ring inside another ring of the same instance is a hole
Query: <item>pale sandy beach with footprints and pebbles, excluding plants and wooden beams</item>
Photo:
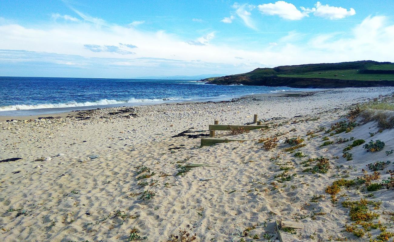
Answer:
[[[0, 160], [21, 159], [0, 163], [0, 241], [275, 241], [276, 220], [303, 224], [281, 231], [283, 241], [370, 241], [381, 230], [361, 237], [346, 231], [354, 220], [342, 202], [361, 198], [379, 214], [371, 221], [394, 233], [393, 189], [342, 186], [334, 198], [326, 189], [338, 179], [362, 177], [363, 169], [372, 174], [369, 163], [391, 161], [393, 129], [379, 132], [375, 122], [359, 119], [348, 133], [320, 129], [347, 120], [357, 103], [393, 92], [330, 89], [46, 115], [55, 118], [2, 117]], [[214, 120], [243, 125], [254, 114], [269, 128], [230, 136], [244, 142], [200, 147]], [[276, 146], [267, 149], [273, 137]], [[286, 150], [294, 146], [285, 140], [296, 137], [305, 146]], [[385, 147], [367, 152], [355, 146], [348, 160], [342, 151], [353, 139], [381, 140]], [[333, 143], [322, 146], [325, 141]], [[328, 159], [327, 172], [305, 171], [319, 157]], [[190, 163], [212, 166], [185, 168]], [[390, 177], [385, 170], [379, 182]], [[185, 240], [175, 240], [180, 230]]]

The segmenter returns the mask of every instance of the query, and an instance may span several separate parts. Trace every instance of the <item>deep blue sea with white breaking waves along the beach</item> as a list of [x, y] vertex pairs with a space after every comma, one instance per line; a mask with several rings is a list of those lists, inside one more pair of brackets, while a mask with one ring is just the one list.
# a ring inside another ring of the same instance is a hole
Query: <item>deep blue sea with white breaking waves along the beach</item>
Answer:
[[165, 102], [219, 101], [285, 90], [299, 89], [222, 86], [168, 79], [0, 77], [0, 115], [35, 115]]

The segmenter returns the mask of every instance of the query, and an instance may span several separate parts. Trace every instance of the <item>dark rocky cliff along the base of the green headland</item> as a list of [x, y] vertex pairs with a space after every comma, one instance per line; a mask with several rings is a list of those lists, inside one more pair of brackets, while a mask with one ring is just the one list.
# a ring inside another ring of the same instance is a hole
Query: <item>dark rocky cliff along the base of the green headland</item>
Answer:
[[327, 78], [292, 78], [266, 76], [251, 79], [247, 76], [223, 76], [207, 78], [208, 84], [216, 85], [255, 85], [268, 87], [296, 87], [296, 88], [344, 88], [344, 87], [394, 87], [394, 81], [358, 81]]

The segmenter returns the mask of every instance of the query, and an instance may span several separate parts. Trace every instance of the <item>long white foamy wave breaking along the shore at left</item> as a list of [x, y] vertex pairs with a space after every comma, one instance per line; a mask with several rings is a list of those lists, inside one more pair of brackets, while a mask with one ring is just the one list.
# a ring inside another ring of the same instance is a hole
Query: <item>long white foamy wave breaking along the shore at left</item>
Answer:
[[163, 99], [130, 98], [128, 100], [102, 99], [94, 102], [48, 103], [48, 104], [35, 104], [35, 105], [17, 104], [17, 105], [2, 106], [0, 107], [0, 111], [47, 109], [47, 108], [60, 108], [60, 107], [86, 107], [86, 106], [110, 105], [110, 104], [121, 104], [121, 103], [163, 102], [169, 100], [177, 100], [177, 98], [163, 98]]

